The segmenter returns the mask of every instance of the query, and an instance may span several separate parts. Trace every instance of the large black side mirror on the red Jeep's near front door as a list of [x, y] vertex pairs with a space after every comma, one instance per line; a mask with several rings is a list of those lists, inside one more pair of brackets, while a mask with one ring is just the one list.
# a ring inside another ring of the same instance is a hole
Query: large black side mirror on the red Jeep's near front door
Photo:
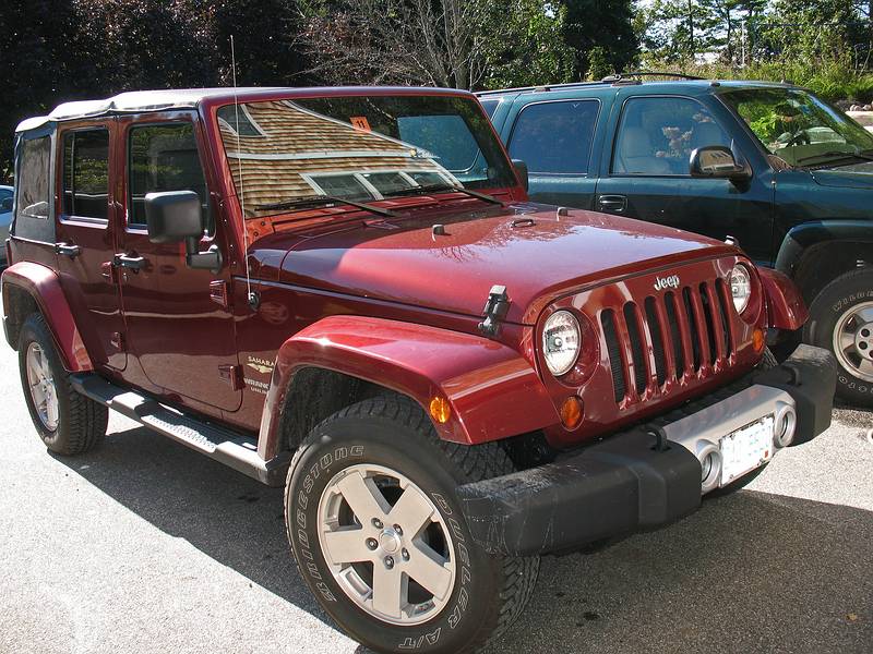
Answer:
[[213, 244], [199, 252], [203, 237], [203, 211], [200, 196], [193, 191], [164, 191], [145, 195], [145, 223], [152, 243], [181, 243], [184, 241], [186, 262], [191, 268], [205, 268], [213, 272], [222, 269], [222, 252]]

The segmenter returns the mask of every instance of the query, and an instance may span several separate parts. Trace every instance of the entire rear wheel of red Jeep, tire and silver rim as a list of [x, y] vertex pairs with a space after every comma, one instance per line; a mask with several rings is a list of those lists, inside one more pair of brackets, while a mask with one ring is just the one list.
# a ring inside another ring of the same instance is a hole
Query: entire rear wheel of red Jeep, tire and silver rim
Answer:
[[19, 371], [31, 420], [49, 450], [71, 456], [99, 445], [109, 410], [73, 390], [40, 314], [32, 314], [22, 326]]

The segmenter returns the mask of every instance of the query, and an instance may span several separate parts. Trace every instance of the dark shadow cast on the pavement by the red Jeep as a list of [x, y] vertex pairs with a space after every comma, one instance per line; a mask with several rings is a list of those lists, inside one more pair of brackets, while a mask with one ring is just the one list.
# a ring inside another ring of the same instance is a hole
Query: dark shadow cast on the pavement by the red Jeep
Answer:
[[[57, 460], [333, 626], [291, 559], [280, 488], [143, 427]], [[489, 652], [866, 653], [872, 542], [873, 512], [862, 509], [752, 491], [707, 500], [666, 530], [543, 558], [530, 605]]]

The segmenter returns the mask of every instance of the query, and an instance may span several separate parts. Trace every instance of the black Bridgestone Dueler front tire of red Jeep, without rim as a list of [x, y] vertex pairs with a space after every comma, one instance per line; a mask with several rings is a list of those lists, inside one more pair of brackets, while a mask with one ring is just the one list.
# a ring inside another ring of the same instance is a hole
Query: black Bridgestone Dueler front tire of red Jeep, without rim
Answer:
[[[336, 582], [321, 550], [318, 506], [322, 493], [339, 471], [362, 463], [404, 474], [451, 524], [456, 542], [454, 588], [440, 613], [424, 622], [394, 625], [364, 611]], [[465, 447], [441, 441], [428, 416], [407, 398], [378, 397], [348, 407], [312, 429], [288, 471], [285, 518], [300, 573], [324, 610], [368, 647], [396, 653], [410, 647], [444, 654], [475, 652], [522, 613], [536, 583], [539, 558], [503, 557], [478, 547], [455, 488], [513, 470], [497, 444]]]

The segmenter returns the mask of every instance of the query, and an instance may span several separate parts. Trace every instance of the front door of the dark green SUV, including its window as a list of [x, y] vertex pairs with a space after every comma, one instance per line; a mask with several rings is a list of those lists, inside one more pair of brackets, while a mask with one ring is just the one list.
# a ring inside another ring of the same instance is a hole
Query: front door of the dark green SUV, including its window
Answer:
[[601, 160], [595, 208], [718, 240], [732, 235], [753, 259], [770, 263], [774, 191], [769, 169], [752, 162], [752, 179], [741, 183], [689, 173], [695, 148], [745, 145], [734, 143], [739, 129], [727, 109], [710, 111], [686, 96], [625, 94], [619, 96], [620, 114], [612, 118], [618, 129], [613, 128], [612, 152], [605, 152]]

